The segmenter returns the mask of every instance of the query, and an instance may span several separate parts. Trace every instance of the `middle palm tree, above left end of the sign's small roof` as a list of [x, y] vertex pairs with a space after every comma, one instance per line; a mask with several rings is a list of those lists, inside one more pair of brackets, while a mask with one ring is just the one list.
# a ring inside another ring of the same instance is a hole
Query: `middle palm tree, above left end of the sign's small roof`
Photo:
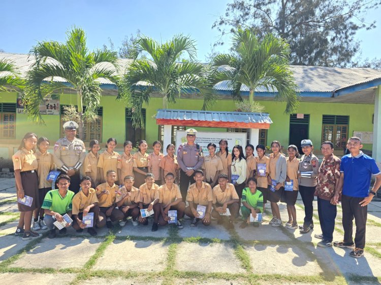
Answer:
[[[175, 35], [170, 41], [159, 44], [151, 38], [141, 37], [136, 42], [140, 57], [126, 70], [124, 84], [130, 91], [134, 126], [143, 126], [141, 110], [148, 104], [153, 91], [163, 96], [163, 109], [168, 102], [175, 103], [184, 93], [198, 93], [204, 97], [202, 109], [207, 109], [215, 99], [211, 81], [213, 69], [195, 61], [195, 41], [184, 35]], [[147, 54], [151, 59], [145, 56]], [[189, 60], [180, 61], [183, 54]]]

